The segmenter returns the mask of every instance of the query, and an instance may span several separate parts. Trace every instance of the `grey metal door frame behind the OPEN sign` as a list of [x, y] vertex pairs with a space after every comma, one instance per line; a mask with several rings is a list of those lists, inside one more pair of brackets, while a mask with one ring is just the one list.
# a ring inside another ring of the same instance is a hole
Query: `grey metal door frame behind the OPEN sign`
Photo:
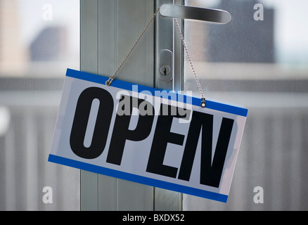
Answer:
[[[182, 1], [80, 0], [81, 70], [112, 75], [156, 8], [162, 3], [183, 4]], [[158, 80], [155, 34], [160, 19], [156, 18], [156, 26], [148, 27], [116, 79], [180, 91], [183, 54], [174, 28], [169, 33], [174, 44], [174, 77], [167, 84]], [[80, 180], [81, 210], [182, 210], [181, 193], [86, 171], [80, 172]]]

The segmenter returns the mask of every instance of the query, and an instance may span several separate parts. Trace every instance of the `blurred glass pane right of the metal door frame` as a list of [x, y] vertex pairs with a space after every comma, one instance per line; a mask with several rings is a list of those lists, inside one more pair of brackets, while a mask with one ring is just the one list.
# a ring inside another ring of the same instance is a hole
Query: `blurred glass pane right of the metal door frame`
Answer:
[[[185, 2], [231, 13], [227, 25], [185, 20], [185, 39], [205, 98], [249, 112], [228, 203], [184, 195], [184, 210], [307, 210], [308, 2]], [[200, 97], [188, 60], [184, 70]]]

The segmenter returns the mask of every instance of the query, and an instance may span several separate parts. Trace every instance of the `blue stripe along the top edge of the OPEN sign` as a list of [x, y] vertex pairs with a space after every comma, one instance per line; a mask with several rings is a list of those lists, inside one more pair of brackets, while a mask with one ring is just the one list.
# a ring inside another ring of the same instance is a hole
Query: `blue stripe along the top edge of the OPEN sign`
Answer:
[[[77, 78], [77, 79], [83, 79], [89, 82], [95, 82], [98, 84], [105, 84], [105, 82], [108, 80], [108, 77], [103, 77], [101, 75], [94, 75], [91, 74], [89, 72], [82, 72], [82, 71], [78, 71], [78, 70], [72, 70], [72, 69], [68, 69], [66, 72], [66, 76], [67, 77], [73, 77], [73, 78]], [[129, 82], [124, 82], [121, 81], [120, 79], [115, 79], [113, 81], [112, 86], [115, 86], [117, 88], [120, 89], [126, 89], [128, 91], [132, 91], [132, 83]], [[137, 84], [136, 84], [137, 85]], [[148, 87], [148, 86], [143, 86], [143, 85], [139, 85], [138, 84], [138, 91], [150, 91], [152, 93], [153, 96], [155, 96], [155, 91], [162, 91], [160, 89], [154, 89], [152, 87]], [[178, 96], [179, 94], [177, 94]], [[186, 98], [184, 98], [184, 103]], [[195, 98], [193, 97], [193, 101], [192, 101], [193, 105], [198, 105], [200, 106], [200, 99], [199, 98]], [[217, 103], [214, 101], [208, 101], [206, 100], [207, 103], [207, 107], [206, 108], [210, 108], [212, 110], [219, 110], [225, 113], [232, 113], [235, 115], [240, 115], [243, 117], [247, 117], [248, 115], [248, 109], [245, 108], [240, 108], [240, 107], [236, 107], [233, 105], [226, 105], [223, 103]]]

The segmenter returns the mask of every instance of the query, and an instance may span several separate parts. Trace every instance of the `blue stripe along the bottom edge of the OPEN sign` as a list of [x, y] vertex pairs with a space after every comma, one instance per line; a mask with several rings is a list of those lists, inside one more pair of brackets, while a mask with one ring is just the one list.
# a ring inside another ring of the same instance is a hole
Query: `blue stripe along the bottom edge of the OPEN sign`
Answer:
[[103, 175], [106, 175], [106, 176], [113, 176], [113, 177], [116, 177], [116, 178], [119, 178], [119, 179], [133, 181], [133, 182], [140, 183], [140, 184], [146, 184], [146, 185], [149, 185], [149, 186], [164, 188], [164, 189], [168, 189], [168, 190], [171, 190], [171, 191], [186, 193], [188, 195], [195, 195], [195, 196], [202, 197], [202, 198], [217, 200], [217, 201], [222, 202], [222, 203], [226, 203], [226, 201], [228, 200], [228, 195], [214, 193], [214, 192], [211, 192], [211, 191], [205, 191], [205, 190], [201, 190], [201, 189], [198, 189], [198, 188], [191, 188], [191, 187], [188, 187], [188, 186], [182, 186], [182, 185], [179, 185], [179, 184], [172, 184], [172, 183], [169, 183], [169, 182], [166, 182], [166, 181], [160, 181], [160, 180], [148, 178], [148, 177], [145, 177], [145, 176], [129, 174], [127, 172], [121, 172], [121, 171], [117, 171], [117, 170], [114, 170], [114, 169], [108, 169], [108, 168], [105, 168], [105, 167], [99, 167], [99, 166], [96, 166], [96, 165], [91, 165], [91, 164], [86, 163], [86, 162], [79, 162], [79, 161], [76, 161], [76, 160], [63, 158], [63, 157], [60, 157], [58, 155], [49, 154], [48, 161], [49, 162], [55, 162], [55, 163], [58, 163], [60, 165], [75, 167], [77, 169], [83, 169], [83, 170], [86, 170], [86, 171], [89, 171], [89, 172], [94, 172], [94, 173], [97, 173], [97, 174], [103, 174]]

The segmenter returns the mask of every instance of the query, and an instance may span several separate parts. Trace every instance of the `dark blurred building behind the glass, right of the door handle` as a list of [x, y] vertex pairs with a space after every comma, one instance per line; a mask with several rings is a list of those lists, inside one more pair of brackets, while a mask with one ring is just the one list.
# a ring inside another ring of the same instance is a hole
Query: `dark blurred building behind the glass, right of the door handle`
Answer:
[[[259, 1], [222, 0], [215, 8], [232, 15], [224, 25], [207, 24], [210, 39], [205, 54], [209, 62], [274, 63], [274, 9], [264, 6], [264, 20], [255, 20]], [[253, 32], [248, 32], [253, 28]]]

